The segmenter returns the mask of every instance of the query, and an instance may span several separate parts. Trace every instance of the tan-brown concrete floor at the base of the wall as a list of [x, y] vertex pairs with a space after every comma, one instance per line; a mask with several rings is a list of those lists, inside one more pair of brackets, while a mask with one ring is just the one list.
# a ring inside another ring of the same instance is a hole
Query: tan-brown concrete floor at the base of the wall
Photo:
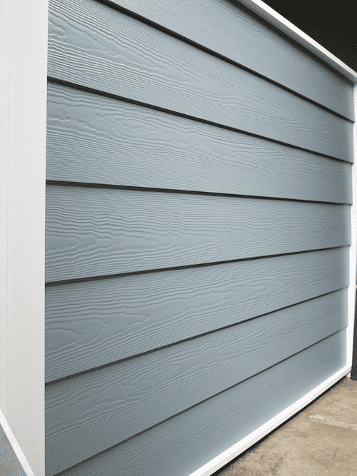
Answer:
[[357, 476], [357, 381], [339, 380], [218, 475]]

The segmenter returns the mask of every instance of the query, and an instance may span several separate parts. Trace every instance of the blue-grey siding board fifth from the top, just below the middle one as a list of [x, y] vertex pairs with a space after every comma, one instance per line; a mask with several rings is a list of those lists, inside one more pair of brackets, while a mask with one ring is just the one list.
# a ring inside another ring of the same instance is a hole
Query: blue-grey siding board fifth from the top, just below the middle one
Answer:
[[348, 247], [49, 286], [46, 382], [348, 286]]

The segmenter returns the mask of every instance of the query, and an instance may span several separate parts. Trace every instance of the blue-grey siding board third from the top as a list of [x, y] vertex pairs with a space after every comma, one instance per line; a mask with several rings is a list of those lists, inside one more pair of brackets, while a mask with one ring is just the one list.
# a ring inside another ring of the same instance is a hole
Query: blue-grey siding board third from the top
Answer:
[[351, 163], [49, 83], [46, 178], [352, 203]]

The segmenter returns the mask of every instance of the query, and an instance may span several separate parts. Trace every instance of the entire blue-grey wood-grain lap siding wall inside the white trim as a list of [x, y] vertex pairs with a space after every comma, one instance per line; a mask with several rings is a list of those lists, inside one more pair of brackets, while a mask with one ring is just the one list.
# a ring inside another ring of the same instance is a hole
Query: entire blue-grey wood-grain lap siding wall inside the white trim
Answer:
[[346, 363], [352, 85], [228, 0], [51, 0], [48, 74], [46, 475], [188, 476]]

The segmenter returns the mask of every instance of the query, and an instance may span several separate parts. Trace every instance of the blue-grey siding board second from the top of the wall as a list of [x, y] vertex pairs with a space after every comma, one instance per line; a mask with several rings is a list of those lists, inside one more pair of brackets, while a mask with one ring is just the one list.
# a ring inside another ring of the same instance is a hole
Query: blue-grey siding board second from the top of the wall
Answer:
[[48, 74], [353, 162], [353, 123], [95, 0], [51, 0]]

